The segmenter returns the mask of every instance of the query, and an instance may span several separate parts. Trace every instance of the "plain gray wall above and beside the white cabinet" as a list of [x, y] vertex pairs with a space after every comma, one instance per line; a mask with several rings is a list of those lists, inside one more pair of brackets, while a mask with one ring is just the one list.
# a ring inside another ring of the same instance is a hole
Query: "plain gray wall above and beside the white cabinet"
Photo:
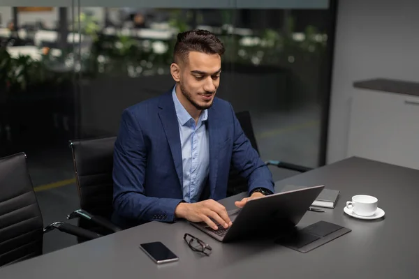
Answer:
[[419, 82], [418, 15], [418, 0], [339, 1], [328, 163], [346, 158], [354, 81], [384, 77]]

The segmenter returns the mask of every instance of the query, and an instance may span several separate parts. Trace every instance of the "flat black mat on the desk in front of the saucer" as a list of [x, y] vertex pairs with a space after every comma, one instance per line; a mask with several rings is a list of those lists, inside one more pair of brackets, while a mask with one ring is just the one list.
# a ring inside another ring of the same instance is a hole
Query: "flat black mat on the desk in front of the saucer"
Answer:
[[298, 252], [309, 252], [348, 232], [351, 232], [351, 229], [333, 223], [319, 221], [308, 227], [304, 227], [304, 229], [295, 229], [293, 232], [284, 234], [275, 243], [297, 250]]

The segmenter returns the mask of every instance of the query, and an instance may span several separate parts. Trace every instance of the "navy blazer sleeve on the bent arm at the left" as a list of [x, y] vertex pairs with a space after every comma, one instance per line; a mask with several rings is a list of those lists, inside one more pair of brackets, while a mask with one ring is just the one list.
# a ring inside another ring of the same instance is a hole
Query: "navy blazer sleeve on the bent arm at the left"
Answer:
[[146, 197], [146, 163], [147, 146], [140, 123], [132, 112], [124, 110], [114, 150], [114, 209], [124, 218], [172, 222], [182, 199]]

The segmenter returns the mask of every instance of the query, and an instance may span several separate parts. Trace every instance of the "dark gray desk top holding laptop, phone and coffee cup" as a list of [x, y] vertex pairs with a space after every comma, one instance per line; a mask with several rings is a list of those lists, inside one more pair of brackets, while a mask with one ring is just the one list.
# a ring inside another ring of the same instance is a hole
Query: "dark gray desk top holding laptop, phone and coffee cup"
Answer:
[[[418, 278], [418, 170], [350, 158], [279, 181], [277, 191], [287, 184], [341, 190], [335, 209], [307, 211], [299, 226], [326, 220], [352, 232], [303, 254], [270, 241], [221, 244], [184, 222], [148, 223], [6, 266], [0, 278]], [[361, 193], [378, 197], [385, 219], [358, 220], [344, 213], [346, 200]], [[239, 198], [223, 204], [232, 209]], [[212, 255], [191, 251], [185, 232], [209, 243]], [[179, 262], [154, 264], [138, 248], [148, 241], [166, 243]]]

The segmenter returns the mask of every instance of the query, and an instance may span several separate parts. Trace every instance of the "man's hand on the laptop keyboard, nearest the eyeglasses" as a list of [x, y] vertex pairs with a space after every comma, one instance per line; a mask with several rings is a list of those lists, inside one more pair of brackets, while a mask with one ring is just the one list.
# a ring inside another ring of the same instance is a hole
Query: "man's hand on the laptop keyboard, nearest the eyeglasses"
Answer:
[[175, 216], [191, 222], [205, 222], [212, 229], [218, 229], [218, 227], [211, 219], [225, 228], [233, 224], [228, 217], [226, 208], [222, 204], [214, 201], [214, 199], [207, 199], [193, 204], [181, 202], [175, 209]]

